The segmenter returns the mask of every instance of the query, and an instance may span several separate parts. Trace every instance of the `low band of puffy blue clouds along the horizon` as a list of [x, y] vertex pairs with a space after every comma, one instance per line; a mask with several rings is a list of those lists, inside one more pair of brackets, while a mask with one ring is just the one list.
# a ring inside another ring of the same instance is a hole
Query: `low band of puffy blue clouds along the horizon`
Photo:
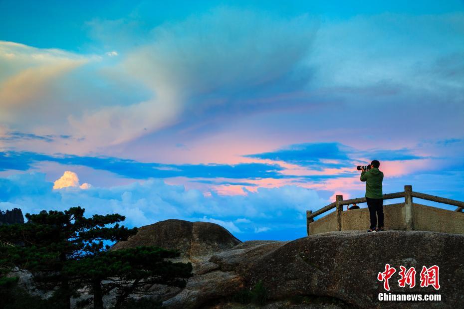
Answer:
[[[327, 204], [314, 190], [284, 186], [258, 188], [246, 195], [221, 196], [149, 179], [110, 188], [82, 190], [77, 175], [58, 179], [66, 187], [54, 190], [42, 173], [0, 178], [0, 209], [19, 207], [24, 213], [82, 206], [87, 215], [121, 213], [129, 226], [177, 218], [218, 223], [241, 240], [295, 239], [305, 235], [305, 211]], [[57, 182], [55, 182], [56, 185]], [[69, 185], [72, 183], [71, 185]], [[257, 235], [259, 234], [259, 235]]]

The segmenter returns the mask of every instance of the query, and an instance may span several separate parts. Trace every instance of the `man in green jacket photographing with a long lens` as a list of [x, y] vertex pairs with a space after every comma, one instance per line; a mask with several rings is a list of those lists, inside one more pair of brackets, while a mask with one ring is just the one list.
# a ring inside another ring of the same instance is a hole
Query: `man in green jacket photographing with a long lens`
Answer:
[[[380, 162], [378, 160], [373, 160], [371, 165], [361, 166], [361, 181], [366, 182], [366, 200], [371, 217], [371, 226], [367, 230], [368, 232], [384, 230], [384, 200], [382, 194], [384, 173], [379, 170], [379, 166]], [[379, 218], [378, 228], [377, 217]]]

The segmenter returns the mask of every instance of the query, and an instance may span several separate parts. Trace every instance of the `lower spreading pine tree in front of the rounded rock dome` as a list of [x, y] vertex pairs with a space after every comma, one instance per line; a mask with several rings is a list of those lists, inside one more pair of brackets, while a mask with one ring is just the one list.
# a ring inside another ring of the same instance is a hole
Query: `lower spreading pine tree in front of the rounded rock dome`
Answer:
[[[120, 308], [130, 295], [146, 295], [154, 284], [185, 287], [192, 264], [173, 263], [179, 253], [158, 247], [136, 247], [98, 254], [67, 263], [66, 274], [92, 287], [94, 308], [103, 308], [103, 296], [115, 290]], [[106, 283], [103, 284], [102, 282]]]

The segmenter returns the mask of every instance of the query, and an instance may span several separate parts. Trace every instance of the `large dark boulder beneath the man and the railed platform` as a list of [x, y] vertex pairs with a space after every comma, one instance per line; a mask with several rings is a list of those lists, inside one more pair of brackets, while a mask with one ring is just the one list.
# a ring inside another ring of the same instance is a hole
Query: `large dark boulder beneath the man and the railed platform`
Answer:
[[[382, 233], [333, 232], [304, 237], [286, 243], [260, 258], [237, 264], [216, 260], [220, 269], [231, 266], [252, 286], [264, 283], [273, 300], [295, 296], [328, 296], [357, 308], [398, 308], [399, 303], [380, 303], [386, 292], [377, 280], [385, 264], [396, 268], [390, 279], [391, 293], [441, 294], [444, 302], [427, 303], [427, 308], [464, 306], [464, 235], [426, 231], [385, 231]], [[239, 259], [238, 259], [239, 260]], [[400, 265], [417, 271], [416, 287], [400, 288]], [[440, 267], [441, 288], [420, 287], [423, 266]], [[402, 308], [424, 308], [424, 303], [402, 303]]]

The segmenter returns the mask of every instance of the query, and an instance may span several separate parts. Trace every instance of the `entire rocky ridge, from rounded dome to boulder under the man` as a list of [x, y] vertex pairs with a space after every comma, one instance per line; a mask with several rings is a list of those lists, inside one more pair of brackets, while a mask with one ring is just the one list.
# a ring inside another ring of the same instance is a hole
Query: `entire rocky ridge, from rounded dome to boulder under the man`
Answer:
[[[464, 235], [424, 231], [334, 232], [291, 242], [240, 243], [220, 226], [199, 223], [159, 222], [141, 228], [128, 242], [114, 246], [117, 249], [154, 244], [183, 250], [182, 259], [194, 265], [194, 276], [187, 286], [153, 288], [154, 294], [161, 294], [167, 308], [234, 308], [233, 296], [258, 281], [266, 289], [267, 308], [398, 308], [399, 303], [377, 301], [378, 293], [385, 292], [377, 275], [385, 270], [386, 263], [397, 269], [390, 280], [390, 292], [443, 296], [442, 302], [401, 303], [402, 308], [464, 306]], [[398, 286], [400, 265], [416, 268], [415, 288]], [[422, 266], [432, 265], [440, 266], [439, 291], [419, 285]], [[305, 301], [295, 305], [295, 298]]]

